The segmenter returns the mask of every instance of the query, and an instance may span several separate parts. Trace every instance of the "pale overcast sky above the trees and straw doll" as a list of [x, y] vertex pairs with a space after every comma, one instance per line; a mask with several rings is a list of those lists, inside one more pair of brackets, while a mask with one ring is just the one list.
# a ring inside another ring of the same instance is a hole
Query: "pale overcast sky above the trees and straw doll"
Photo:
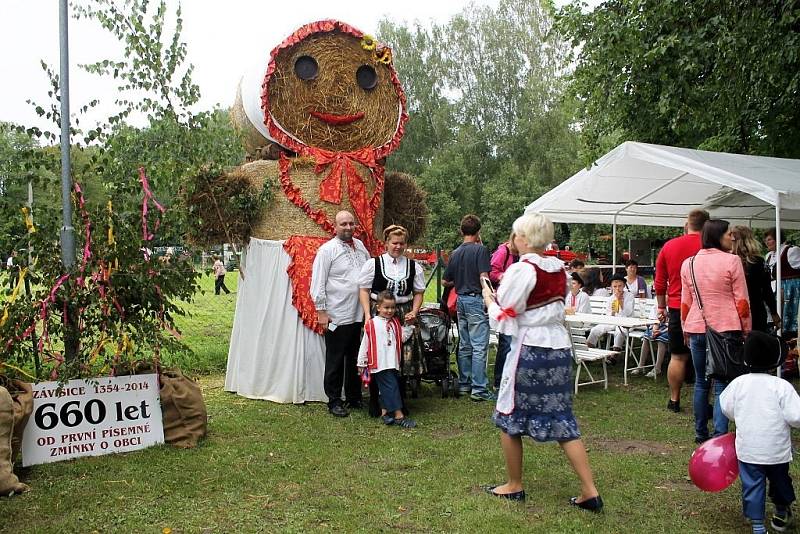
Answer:
[[[153, 2], [155, 3], [155, 2]], [[495, 6], [497, 0], [479, 0]], [[174, 6], [176, 0], [169, 0]], [[444, 22], [469, 3], [462, 0], [268, 0], [183, 1], [183, 39], [188, 45], [189, 62], [195, 65], [194, 81], [203, 98], [200, 109], [216, 104], [229, 106], [236, 85], [254, 62], [266, 59], [269, 51], [301, 25], [325, 18], [336, 18], [374, 34], [378, 22], [430, 20]], [[289, 9], [296, 6], [295, 9]], [[391, 44], [391, 43], [390, 43]], [[37, 125], [54, 130], [42, 122], [25, 103], [32, 99], [49, 103], [48, 82], [39, 66], [43, 59], [58, 72], [58, 1], [0, 0], [0, 72], [3, 73], [0, 121]], [[73, 111], [92, 99], [103, 104], [93, 116], [106, 117], [115, 111], [114, 87], [110, 81], [88, 75], [77, 68], [80, 63], [117, 59], [119, 43], [91, 21], [70, 20], [71, 106]], [[82, 121], [84, 122], [84, 121]], [[82, 124], [83, 126], [84, 124]]]

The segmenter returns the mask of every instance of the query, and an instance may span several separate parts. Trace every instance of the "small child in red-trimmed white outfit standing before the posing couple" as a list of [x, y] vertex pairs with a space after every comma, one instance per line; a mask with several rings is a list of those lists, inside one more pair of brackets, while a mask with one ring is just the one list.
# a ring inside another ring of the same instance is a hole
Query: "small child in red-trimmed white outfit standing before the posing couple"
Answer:
[[378, 315], [364, 325], [364, 336], [358, 350], [358, 372], [368, 369], [370, 380], [378, 384], [381, 417], [387, 425], [414, 428], [417, 424], [403, 415], [400, 398], [400, 355], [403, 342], [411, 337], [414, 328], [401, 326], [394, 316], [396, 302], [390, 291], [381, 291], [375, 301]]

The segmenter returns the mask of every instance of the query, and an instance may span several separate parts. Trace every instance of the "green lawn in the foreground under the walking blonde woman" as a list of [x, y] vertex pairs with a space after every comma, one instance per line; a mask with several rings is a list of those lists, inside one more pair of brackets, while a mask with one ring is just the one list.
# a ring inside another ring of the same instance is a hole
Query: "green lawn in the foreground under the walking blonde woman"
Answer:
[[[197, 368], [223, 369], [235, 295], [214, 296], [210, 277], [203, 285], [182, 329]], [[620, 366], [610, 372], [608, 391], [575, 398], [601, 515], [565, 505], [578, 484], [555, 444], [525, 442], [526, 503], [484, 495], [481, 484], [504, 477], [489, 404], [426, 385], [410, 404], [419, 427], [405, 431], [365, 413], [335, 419], [322, 404], [238, 397], [215, 372], [201, 378], [210, 419], [200, 447], [23, 470], [33, 490], [0, 501], [0, 531], [746, 532], [738, 482], [707, 494], [686, 479], [691, 390], [675, 415], [663, 379], [623, 386]]]

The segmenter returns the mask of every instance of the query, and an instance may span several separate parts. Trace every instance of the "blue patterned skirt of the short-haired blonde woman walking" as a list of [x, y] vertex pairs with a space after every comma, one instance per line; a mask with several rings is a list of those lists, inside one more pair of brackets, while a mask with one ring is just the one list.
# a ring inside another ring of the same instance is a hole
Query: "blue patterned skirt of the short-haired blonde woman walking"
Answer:
[[495, 425], [509, 436], [570, 441], [581, 436], [572, 414], [570, 349], [522, 346], [514, 388], [514, 411], [495, 411]]

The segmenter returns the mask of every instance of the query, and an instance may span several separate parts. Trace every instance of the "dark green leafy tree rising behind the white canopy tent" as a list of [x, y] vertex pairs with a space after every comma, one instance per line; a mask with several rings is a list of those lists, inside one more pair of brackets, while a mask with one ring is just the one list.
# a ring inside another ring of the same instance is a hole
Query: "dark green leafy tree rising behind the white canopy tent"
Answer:
[[800, 4], [574, 1], [557, 30], [590, 163], [625, 140], [800, 156]]

